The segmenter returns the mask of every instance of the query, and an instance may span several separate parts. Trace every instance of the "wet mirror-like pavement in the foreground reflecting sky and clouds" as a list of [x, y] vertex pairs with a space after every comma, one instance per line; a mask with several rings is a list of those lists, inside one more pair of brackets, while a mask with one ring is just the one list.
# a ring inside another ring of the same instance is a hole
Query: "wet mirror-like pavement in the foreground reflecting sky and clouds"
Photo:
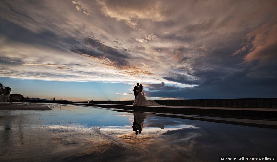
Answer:
[[53, 111], [0, 110], [0, 161], [219, 161], [220, 155], [276, 155], [277, 129], [47, 105]]

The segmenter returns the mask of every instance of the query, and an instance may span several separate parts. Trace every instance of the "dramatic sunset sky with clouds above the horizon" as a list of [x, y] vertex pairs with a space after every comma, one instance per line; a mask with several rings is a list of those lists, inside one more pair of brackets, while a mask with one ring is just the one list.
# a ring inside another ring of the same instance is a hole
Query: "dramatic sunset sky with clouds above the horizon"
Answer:
[[0, 1], [0, 83], [39, 98], [277, 97], [277, 1]]

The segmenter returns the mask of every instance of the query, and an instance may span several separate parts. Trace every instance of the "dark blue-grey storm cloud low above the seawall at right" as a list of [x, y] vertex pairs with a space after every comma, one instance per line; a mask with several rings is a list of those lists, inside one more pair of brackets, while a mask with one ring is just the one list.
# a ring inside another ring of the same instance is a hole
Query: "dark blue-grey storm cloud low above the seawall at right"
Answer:
[[[276, 96], [276, 73], [275, 76], [271, 76], [272, 78], [267, 79], [250, 78], [246, 76], [248, 73], [249, 70], [242, 70], [231, 72], [231, 74], [228, 73], [228, 75], [224, 76], [211, 74], [201, 75], [202, 77], [199, 80], [202, 82], [199, 82], [198, 86], [191, 88], [187, 87], [175, 92], [148, 92], [148, 95], [152, 97], [185, 97], [188, 99], [259, 98]], [[210, 79], [205, 78], [205, 76], [210, 77]], [[184, 82], [187, 83], [186, 81]]]

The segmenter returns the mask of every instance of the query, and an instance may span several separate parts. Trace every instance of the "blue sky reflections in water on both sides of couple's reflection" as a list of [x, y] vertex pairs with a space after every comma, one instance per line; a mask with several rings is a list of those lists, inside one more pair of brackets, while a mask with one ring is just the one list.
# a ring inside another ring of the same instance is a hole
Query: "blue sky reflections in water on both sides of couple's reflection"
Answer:
[[[50, 106], [51, 107], [51, 106]], [[54, 107], [54, 108], [53, 108]], [[122, 111], [111, 111], [111, 109], [92, 108], [86, 106], [72, 106], [72, 105], [52, 105], [51, 113], [42, 115], [45, 125], [73, 125], [78, 124], [84, 127], [100, 126], [107, 128], [126, 128], [133, 125], [133, 113]], [[165, 118], [155, 116], [154, 114], [147, 114], [144, 121], [144, 128], [154, 127], [164, 129], [165, 125], [168, 128], [182, 128], [184, 119]], [[152, 128], [153, 129], [153, 128]]]

